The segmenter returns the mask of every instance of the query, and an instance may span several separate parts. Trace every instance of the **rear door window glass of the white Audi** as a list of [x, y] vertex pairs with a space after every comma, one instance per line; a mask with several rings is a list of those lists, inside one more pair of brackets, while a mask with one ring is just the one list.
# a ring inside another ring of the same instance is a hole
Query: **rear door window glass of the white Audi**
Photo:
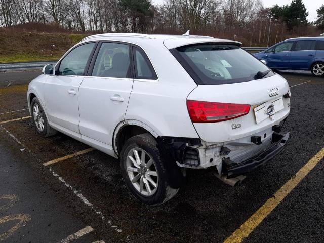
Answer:
[[120, 43], [102, 43], [92, 76], [130, 77], [129, 45]]

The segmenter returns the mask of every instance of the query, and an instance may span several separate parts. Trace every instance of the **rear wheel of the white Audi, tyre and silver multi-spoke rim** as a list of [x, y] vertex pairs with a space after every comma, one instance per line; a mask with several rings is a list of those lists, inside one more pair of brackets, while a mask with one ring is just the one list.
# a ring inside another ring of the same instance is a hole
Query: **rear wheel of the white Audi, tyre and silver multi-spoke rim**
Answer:
[[[136, 162], [135, 151], [137, 151], [139, 163]], [[144, 160], [143, 153], [145, 154]], [[145, 162], [142, 163], [142, 161]], [[148, 133], [134, 136], [126, 141], [120, 152], [120, 168], [129, 190], [144, 204], [163, 204], [175, 196], [179, 190], [170, 187], [165, 161], [157, 148], [156, 140]]]

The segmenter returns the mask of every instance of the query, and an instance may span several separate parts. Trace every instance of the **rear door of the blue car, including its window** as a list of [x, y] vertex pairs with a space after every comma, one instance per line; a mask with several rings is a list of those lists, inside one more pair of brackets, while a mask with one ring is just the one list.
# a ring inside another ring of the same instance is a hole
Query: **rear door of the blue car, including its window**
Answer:
[[310, 69], [310, 66], [315, 59], [315, 44], [314, 40], [296, 41], [290, 58], [290, 68], [292, 69]]

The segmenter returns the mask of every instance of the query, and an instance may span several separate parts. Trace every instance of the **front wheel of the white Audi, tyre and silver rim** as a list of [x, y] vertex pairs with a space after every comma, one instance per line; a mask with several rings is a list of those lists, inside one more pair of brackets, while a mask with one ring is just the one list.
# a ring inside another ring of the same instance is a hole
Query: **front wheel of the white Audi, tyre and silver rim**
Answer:
[[35, 126], [36, 132], [49, 137], [55, 135], [57, 131], [50, 127], [44, 109], [39, 102], [38, 98], [35, 97], [31, 101], [31, 117]]

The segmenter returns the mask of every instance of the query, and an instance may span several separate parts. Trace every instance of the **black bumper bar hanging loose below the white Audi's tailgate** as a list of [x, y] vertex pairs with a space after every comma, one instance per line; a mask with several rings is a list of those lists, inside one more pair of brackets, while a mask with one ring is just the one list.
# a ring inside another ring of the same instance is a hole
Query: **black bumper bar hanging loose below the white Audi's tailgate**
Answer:
[[242, 161], [239, 164], [235, 164], [233, 163], [233, 161], [224, 158], [222, 165], [222, 174], [227, 176], [227, 178], [233, 178], [244, 173], [250, 172], [255, 168], [261, 166], [262, 164], [274, 158], [274, 156], [276, 156], [278, 153], [281, 152], [282, 149], [284, 149], [289, 139], [289, 135], [289, 133], [286, 133], [285, 135], [276, 134], [278, 141], [275, 142], [274, 145], [272, 145], [267, 150], [259, 153], [258, 155], [249, 158], [245, 161]]

